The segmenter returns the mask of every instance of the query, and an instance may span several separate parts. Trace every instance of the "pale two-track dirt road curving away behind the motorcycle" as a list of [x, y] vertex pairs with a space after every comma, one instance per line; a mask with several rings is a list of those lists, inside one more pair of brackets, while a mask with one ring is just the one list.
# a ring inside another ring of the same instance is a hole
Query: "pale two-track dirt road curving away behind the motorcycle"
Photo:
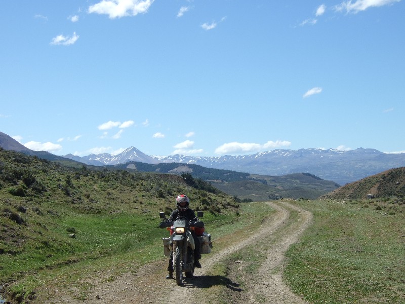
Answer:
[[[145, 265], [136, 274], [124, 274], [109, 283], [101, 283], [100, 280], [96, 284], [94, 295], [86, 303], [171, 303], [183, 298], [184, 304], [215, 304], [220, 302], [216, 297], [218, 286], [226, 287], [222, 288], [225, 291], [220, 291], [221, 297], [232, 303], [305, 303], [282, 281], [282, 263], [286, 250], [298, 241], [300, 234], [310, 224], [312, 214], [287, 202], [269, 204], [277, 212], [262, 223], [254, 237], [243, 240], [236, 246], [204, 255], [201, 259], [203, 268], [195, 270], [194, 278], [185, 279], [184, 286], [177, 286], [175, 280], [164, 279], [167, 274], [165, 258], [157, 264]], [[295, 216], [291, 216], [292, 213]], [[237, 261], [227, 265], [231, 275], [209, 275], [215, 264], [246, 246], [265, 251], [266, 258], [256, 274], [244, 272], [243, 261]], [[240, 280], [244, 282], [243, 286], [240, 285]], [[83, 303], [69, 296], [63, 296], [55, 302]]]

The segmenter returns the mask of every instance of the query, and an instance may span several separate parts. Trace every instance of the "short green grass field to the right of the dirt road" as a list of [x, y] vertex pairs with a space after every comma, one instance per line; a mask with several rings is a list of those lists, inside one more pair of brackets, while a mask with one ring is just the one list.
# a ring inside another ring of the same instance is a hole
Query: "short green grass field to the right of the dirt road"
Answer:
[[362, 201], [297, 204], [314, 223], [287, 252], [284, 276], [295, 293], [311, 303], [405, 302], [403, 213]]

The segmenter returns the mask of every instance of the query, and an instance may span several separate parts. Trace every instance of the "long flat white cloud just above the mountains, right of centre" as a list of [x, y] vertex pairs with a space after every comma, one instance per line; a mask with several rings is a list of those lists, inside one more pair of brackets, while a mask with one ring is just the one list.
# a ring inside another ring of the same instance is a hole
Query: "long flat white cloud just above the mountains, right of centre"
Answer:
[[224, 155], [224, 154], [239, 154], [239, 153], [248, 153], [248, 152], [258, 152], [261, 150], [267, 150], [271, 148], [277, 147], [286, 147], [290, 146], [290, 141], [268, 141], [265, 144], [259, 143], [241, 143], [241, 142], [228, 142], [224, 143], [223, 145], [219, 146], [215, 149], [216, 154]]

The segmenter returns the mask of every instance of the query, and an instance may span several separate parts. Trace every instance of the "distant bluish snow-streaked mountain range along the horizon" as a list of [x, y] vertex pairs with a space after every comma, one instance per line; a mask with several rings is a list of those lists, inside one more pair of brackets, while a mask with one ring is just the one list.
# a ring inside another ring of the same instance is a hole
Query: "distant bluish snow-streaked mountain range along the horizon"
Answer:
[[2, 132], [0, 132], [0, 146], [50, 160], [70, 159], [94, 166], [117, 165], [128, 162], [181, 163], [270, 176], [305, 172], [321, 179], [332, 180], [340, 185], [388, 169], [405, 166], [405, 153], [387, 154], [372, 148], [357, 148], [348, 151], [318, 148], [276, 149], [252, 155], [196, 157], [184, 155], [148, 156], [132, 146], [118, 155], [104, 153], [79, 157], [68, 154], [62, 157], [46, 151], [32, 151]]

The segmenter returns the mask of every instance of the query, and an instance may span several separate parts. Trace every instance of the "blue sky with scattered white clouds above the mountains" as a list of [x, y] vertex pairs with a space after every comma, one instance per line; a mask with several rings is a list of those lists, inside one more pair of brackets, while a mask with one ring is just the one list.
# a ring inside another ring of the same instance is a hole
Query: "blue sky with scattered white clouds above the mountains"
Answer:
[[0, 131], [56, 155], [405, 152], [401, 0], [9, 0]]

